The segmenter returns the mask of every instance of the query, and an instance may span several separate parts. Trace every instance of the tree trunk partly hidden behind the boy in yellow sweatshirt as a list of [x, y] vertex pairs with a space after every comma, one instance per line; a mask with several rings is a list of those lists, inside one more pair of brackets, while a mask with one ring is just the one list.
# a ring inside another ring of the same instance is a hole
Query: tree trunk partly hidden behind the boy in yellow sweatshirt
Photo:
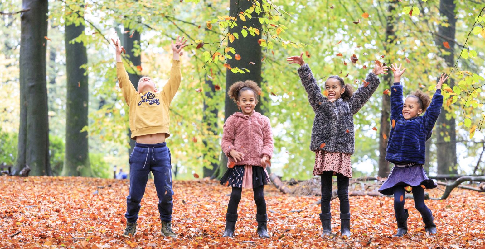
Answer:
[[[129, 30], [129, 27], [125, 27], [125, 31]], [[126, 50], [126, 56], [128, 57], [128, 60], [133, 63], [133, 65], [139, 66], [142, 64], [142, 59], [140, 57], [140, 52], [138, 52], [138, 56], [135, 56], [135, 53], [133, 52], [133, 48], [135, 47], [135, 44], [137, 47], [140, 46], [140, 33], [135, 30], [133, 33], [133, 36], [129, 38], [131, 35], [131, 32], [124, 33], [123, 34], [123, 40], [122, 40], [122, 45], [125, 47]], [[140, 80], [141, 75], [138, 74], [138, 71], [135, 72], [135, 74], [131, 74], [128, 72], [128, 77], [135, 89], [138, 90], [138, 80]], [[128, 155], [131, 155], [131, 152], [133, 151], [133, 148], [135, 148], [135, 140], [131, 139], [131, 131], [128, 129], [128, 139], [129, 139], [129, 151]]]

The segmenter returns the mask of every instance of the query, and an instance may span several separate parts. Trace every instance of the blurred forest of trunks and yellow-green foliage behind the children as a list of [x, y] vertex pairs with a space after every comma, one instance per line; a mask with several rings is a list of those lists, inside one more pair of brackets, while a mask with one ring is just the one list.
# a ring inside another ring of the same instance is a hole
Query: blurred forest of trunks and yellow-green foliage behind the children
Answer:
[[[226, 88], [241, 79], [263, 89], [257, 110], [273, 126], [271, 171], [311, 177], [314, 113], [297, 66], [286, 62], [301, 51], [321, 86], [339, 75], [357, 88], [375, 60], [403, 63], [405, 94], [431, 96], [439, 75], [450, 74], [425, 168], [483, 174], [484, 7], [480, 0], [0, 0], [0, 167], [104, 178], [114, 166], [128, 171], [134, 143], [111, 38], [126, 48], [131, 81], [148, 75], [161, 89], [170, 41], [185, 36], [191, 45], [167, 139], [175, 179], [226, 169], [222, 127], [237, 111]], [[354, 177], [386, 177], [391, 167], [384, 157], [393, 77], [379, 78], [355, 115]]]

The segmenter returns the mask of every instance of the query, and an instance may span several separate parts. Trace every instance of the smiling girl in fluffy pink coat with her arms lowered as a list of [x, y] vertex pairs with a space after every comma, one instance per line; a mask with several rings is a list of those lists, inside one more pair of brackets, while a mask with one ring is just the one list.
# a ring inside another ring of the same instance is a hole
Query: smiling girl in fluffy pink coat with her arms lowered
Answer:
[[271, 166], [273, 134], [269, 118], [254, 111], [260, 93], [261, 88], [252, 80], [234, 83], [227, 93], [242, 112], [227, 118], [221, 141], [222, 150], [228, 158], [228, 169], [221, 178], [221, 184], [232, 187], [224, 237], [234, 235], [242, 188], [253, 189], [258, 235], [262, 238], [270, 237], [266, 227], [268, 215], [263, 187], [270, 180], [266, 167]]

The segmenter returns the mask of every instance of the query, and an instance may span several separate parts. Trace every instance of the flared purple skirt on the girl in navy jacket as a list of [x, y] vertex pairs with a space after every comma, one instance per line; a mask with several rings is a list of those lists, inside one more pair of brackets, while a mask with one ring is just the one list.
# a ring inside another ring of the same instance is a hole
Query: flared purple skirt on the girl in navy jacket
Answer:
[[383, 195], [393, 195], [395, 186], [411, 186], [435, 188], [437, 185], [433, 180], [429, 179], [421, 164], [415, 164], [407, 168], [392, 167], [388, 179], [379, 188], [379, 192]]

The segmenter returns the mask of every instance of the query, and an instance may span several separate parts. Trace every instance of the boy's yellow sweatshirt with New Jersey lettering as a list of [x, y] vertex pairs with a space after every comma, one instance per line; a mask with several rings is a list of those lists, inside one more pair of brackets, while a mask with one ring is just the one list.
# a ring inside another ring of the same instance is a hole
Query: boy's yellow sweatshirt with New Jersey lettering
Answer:
[[116, 74], [118, 75], [118, 84], [129, 106], [131, 139], [136, 140], [137, 136], [156, 133], [165, 133], [165, 138], [170, 137], [168, 129], [170, 124], [169, 107], [180, 86], [180, 61], [173, 60], [170, 78], [163, 86], [162, 92], [137, 93], [135, 87], [129, 81], [123, 62], [116, 62]]

